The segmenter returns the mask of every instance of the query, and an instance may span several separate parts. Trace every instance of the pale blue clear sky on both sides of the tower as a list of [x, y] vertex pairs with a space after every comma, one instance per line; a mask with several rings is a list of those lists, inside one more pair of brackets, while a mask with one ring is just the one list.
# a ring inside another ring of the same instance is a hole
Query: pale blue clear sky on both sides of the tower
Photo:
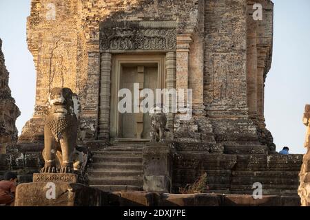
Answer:
[[[304, 105], [310, 104], [310, 1], [273, 0], [273, 63], [265, 89], [266, 124], [277, 150], [289, 146], [304, 153]], [[0, 0], [0, 38], [10, 72], [10, 88], [21, 116], [17, 128], [32, 117], [35, 70], [26, 44], [30, 0]]]

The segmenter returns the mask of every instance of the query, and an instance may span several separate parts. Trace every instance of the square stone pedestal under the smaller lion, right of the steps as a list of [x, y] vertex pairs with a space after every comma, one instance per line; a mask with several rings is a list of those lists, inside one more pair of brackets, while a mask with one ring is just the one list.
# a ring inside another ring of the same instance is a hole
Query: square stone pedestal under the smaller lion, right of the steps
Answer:
[[161, 143], [143, 148], [143, 190], [147, 192], [171, 192], [172, 152]]

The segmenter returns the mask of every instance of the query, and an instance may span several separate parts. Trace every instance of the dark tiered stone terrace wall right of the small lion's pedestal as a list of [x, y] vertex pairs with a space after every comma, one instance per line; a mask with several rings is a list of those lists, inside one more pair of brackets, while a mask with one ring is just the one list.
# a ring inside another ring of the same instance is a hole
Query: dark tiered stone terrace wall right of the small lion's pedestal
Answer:
[[302, 155], [268, 155], [268, 150], [245, 154], [236, 153], [235, 149], [231, 153], [187, 149], [174, 157], [173, 192], [178, 193], [180, 187], [194, 184], [207, 173], [206, 192], [252, 195], [253, 185], [258, 182], [263, 195], [297, 196], [301, 164]]

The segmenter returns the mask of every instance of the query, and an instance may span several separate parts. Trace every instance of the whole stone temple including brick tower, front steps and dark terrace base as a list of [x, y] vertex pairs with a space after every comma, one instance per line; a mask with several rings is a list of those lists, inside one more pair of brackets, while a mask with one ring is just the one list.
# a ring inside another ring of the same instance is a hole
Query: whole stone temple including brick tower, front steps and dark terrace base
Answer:
[[[32, 0], [27, 32], [37, 97], [10, 168], [42, 167], [48, 96], [68, 87], [81, 103], [79, 144], [93, 154], [90, 186], [178, 193], [207, 173], [208, 192], [251, 195], [259, 182], [265, 195], [297, 196], [302, 156], [276, 153], [264, 118], [271, 1]], [[192, 89], [192, 118], [167, 113], [166, 142], [149, 143], [149, 115], [118, 111], [118, 91], [134, 94], [134, 83]]]

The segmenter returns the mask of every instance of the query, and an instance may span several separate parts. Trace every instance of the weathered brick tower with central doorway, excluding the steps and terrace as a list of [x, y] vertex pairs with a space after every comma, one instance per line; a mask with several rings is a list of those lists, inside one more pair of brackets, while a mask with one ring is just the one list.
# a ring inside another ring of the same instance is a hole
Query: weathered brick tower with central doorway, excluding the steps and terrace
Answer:
[[143, 84], [140, 89], [193, 89], [192, 120], [180, 121], [180, 112], [167, 115], [173, 140], [261, 144], [274, 151], [264, 119], [273, 3], [257, 3], [262, 21], [254, 21], [250, 0], [32, 0], [27, 29], [37, 98], [19, 140], [43, 140], [52, 87], [79, 95], [80, 140], [134, 138], [138, 126], [147, 131], [147, 120], [121, 117], [116, 109], [118, 90], [135, 74], [131, 80]]

